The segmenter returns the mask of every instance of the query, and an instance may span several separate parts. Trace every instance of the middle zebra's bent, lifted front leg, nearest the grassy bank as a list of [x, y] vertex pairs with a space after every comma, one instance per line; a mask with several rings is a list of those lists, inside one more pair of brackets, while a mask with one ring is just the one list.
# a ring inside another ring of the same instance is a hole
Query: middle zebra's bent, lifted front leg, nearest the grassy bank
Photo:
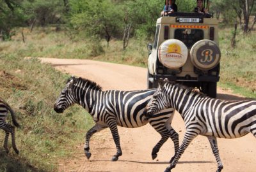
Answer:
[[91, 152], [90, 152], [90, 138], [92, 137], [92, 135], [94, 133], [97, 133], [99, 131], [102, 131], [102, 129], [106, 129], [105, 126], [99, 125], [99, 124], [95, 124], [91, 129], [88, 130], [88, 132], [86, 133], [85, 136], [85, 143], [84, 143], [84, 153], [87, 157], [87, 159], [90, 159], [91, 157]]

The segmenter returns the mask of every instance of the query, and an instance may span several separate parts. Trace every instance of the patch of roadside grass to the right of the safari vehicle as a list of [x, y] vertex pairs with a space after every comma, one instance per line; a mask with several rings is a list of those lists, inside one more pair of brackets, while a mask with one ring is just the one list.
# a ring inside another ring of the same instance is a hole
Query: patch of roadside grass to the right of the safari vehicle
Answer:
[[246, 36], [239, 31], [236, 48], [230, 47], [232, 29], [219, 34], [221, 48], [221, 87], [229, 87], [245, 97], [256, 98], [256, 31]]

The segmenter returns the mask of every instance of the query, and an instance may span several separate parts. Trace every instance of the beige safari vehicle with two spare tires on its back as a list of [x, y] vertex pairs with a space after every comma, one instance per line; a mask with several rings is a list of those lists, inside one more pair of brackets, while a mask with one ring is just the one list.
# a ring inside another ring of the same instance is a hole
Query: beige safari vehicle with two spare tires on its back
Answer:
[[220, 80], [218, 20], [213, 13], [170, 13], [156, 22], [153, 43], [148, 43], [148, 89], [159, 78], [196, 87], [216, 97]]

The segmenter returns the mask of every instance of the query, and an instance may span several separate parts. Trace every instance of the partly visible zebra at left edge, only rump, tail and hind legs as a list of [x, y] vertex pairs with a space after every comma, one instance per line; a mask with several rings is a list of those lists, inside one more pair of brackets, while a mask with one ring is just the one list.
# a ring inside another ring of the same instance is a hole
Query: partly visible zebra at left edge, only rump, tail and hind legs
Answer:
[[8, 103], [6, 103], [5, 101], [3, 101], [3, 99], [1, 99], [0, 97], [0, 129], [3, 129], [5, 131], [5, 138], [4, 138], [4, 149], [6, 151], [6, 153], [8, 154], [9, 150], [8, 150], [8, 138], [9, 138], [9, 134], [12, 134], [12, 147], [13, 150], [16, 152], [16, 154], [19, 154], [19, 150], [16, 147], [16, 143], [15, 143], [15, 128], [13, 127], [13, 125], [6, 123], [6, 117], [8, 115], [8, 111], [10, 111], [11, 116], [12, 116], [12, 122], [16, 127], [19, 127], [20, 125], [18, 124], [18, 122], [15, 119], [15, 113], [12, 110], [12, 108], [9, 106]]

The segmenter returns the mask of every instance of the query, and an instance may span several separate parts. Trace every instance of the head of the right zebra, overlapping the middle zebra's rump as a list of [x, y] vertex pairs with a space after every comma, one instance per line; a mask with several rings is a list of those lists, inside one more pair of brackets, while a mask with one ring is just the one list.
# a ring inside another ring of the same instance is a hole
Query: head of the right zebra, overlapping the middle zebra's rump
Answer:
[[157, 112], [171, 107], [166, 89], [167, 84], [168, 79], [159, 80], [159, 87], [156, 89], [156, 92], [153, 94], [146, 107], [147, 117], [152, 117], [152, 115], [156, 114]]

